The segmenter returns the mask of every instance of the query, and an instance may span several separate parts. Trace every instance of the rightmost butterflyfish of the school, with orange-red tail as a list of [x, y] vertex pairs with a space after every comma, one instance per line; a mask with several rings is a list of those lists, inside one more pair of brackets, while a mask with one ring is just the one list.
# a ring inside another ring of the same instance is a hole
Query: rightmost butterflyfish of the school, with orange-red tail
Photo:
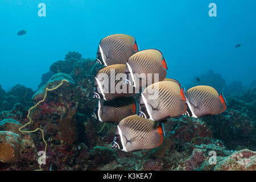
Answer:
[[195, 86], [185, 92], [187, 115], [194, 118], [216, 115], [226, 110], [226, 101], [212, 86]]

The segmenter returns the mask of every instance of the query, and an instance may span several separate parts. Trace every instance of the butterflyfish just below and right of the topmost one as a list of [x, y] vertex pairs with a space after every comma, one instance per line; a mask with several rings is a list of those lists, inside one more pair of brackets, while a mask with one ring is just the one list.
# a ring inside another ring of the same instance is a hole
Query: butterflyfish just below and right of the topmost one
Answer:
[[[167, 70], [166, 59], [164, 59], [162, 52], [156, 49], [139, 51], [131, 56], [126, 63], [125, 73], [131, 76], [133, 84], [127, 79], [125, 82], [126, 84], [133, 85], [135, 88], [143, 88], [147, 85], [141, 85], [141, 83], [148, 81], [147, 76], [149, 73], [153, 75], [159, 74], [159, 80], [157, 81], [163, 81]], [[139, 75], [142, 75], [142, 77], [139, 77]], [[154, 82], [154, 79], [152, 79], [152, 83]]]

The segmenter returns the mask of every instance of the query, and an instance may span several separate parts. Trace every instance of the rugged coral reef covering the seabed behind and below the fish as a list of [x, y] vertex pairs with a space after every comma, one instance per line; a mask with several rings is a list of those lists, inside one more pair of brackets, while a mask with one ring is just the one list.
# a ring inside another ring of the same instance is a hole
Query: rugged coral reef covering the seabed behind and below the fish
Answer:
[[[117, 124], [91, 117], [97, 104], [94, 76], [101, 68], [94, 59], [69, 52], [51, 65], [35, 93], [21, 85], [6, 93], [0, 86], [0, 170], [39, 169], [38, 152], [46, 143], [43, 170], [255, 170], [256, 89], [230, 93], [228, 109], [220, 115], [168, 119], [158, 148], [126, 153], [111, 147]], [[213, 71], [199, 78], [200, 85], [226, 89]], [[196, 78], [193, 82], [199, 85]], [[42, 129], [44, 136], [20, 127]]]

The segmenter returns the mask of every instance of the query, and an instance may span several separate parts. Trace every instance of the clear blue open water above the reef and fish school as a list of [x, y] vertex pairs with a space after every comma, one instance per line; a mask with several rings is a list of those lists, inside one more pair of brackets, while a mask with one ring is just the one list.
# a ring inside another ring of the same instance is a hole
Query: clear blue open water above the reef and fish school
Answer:
[[[41, 2], [46, 17], [38, 16]], [[217, 17], [208, 15], [211, 2]], [[128, 34], [140, 49], [162, 51], [167, 76], [181, 84], [213, 69], [227, 84], [249, 85], [256, 79], [255, 7], [253, 0], [1, 0], [0, 84], [36, 90], [42, 74], [68, 51], [95, 58], [102, 38]], [[27, 34], [17, 36], [23, 29]]]

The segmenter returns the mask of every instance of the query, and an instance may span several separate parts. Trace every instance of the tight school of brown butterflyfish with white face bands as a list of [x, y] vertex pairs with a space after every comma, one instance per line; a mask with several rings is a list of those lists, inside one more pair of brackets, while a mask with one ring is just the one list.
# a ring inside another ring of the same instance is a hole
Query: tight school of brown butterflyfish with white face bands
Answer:
[[105, 67], [95, 77], [93, 98], [98, 104], [92, 116], [100, 122], [118, 123], [112, 147], [122, 151], [160, 146], [163, 122], [168, 118], [201, 118], [226, 110], [225, 98], [212, 86], [185, 91], [177, 80], [166, 78], [162, 52], [139, 51], [133, 36], [115, 34], [102, 39], [96, 62]]

